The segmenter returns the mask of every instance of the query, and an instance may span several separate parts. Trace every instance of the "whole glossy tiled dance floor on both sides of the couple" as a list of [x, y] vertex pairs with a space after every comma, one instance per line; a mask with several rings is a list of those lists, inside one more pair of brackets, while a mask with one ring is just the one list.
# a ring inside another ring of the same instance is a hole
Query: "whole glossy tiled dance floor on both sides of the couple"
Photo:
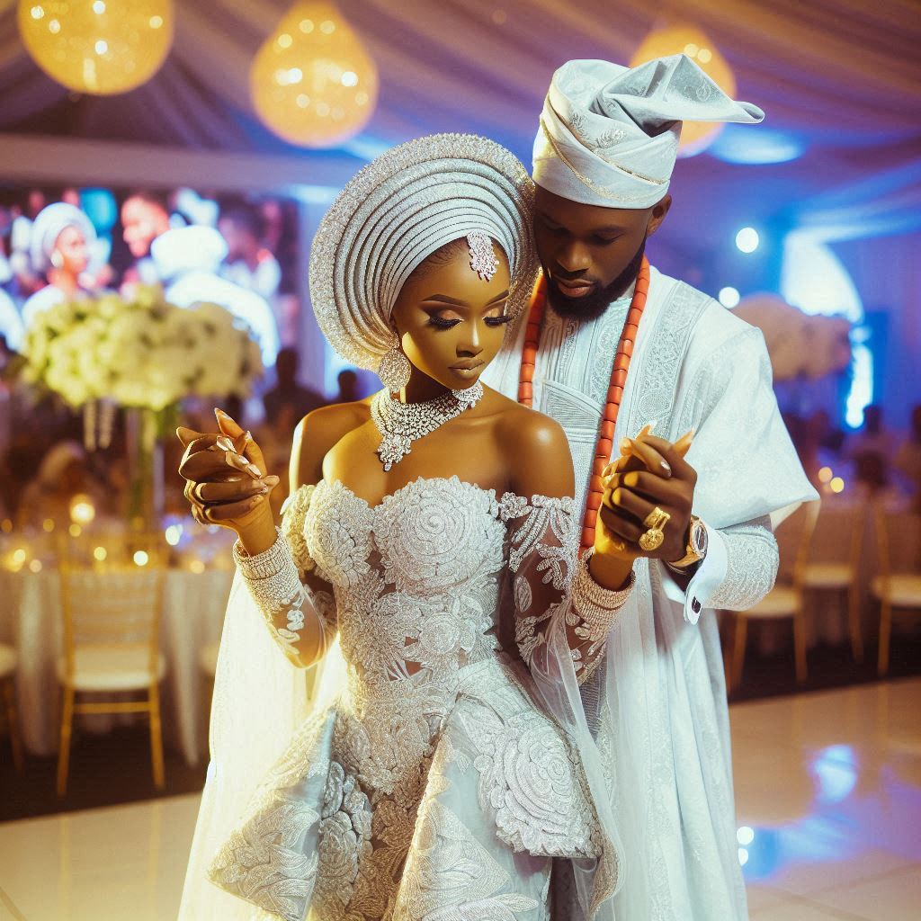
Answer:
[[[919, 713], [921, 680], [732, 708], [754, 921], [921, 917]], [[0, 919], [173, 921], [197, 800], [0, 825]]]

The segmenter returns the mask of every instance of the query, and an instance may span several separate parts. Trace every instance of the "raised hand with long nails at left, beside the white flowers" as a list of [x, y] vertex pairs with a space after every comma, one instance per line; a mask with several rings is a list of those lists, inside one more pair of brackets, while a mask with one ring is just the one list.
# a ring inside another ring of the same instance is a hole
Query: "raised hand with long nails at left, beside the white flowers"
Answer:
[[270, 530], [274, 538], [268, 497], [278, 477], [265, 474], [262, 450], [250, 433], [227, 414], [215, 413], [217, 433], [185, 427], [176, 431], [185, 446], [179, 472], [187, 481], [192, 518], [235, 530], [244, 544], [251, 543], [248, 537], [267, 536]]

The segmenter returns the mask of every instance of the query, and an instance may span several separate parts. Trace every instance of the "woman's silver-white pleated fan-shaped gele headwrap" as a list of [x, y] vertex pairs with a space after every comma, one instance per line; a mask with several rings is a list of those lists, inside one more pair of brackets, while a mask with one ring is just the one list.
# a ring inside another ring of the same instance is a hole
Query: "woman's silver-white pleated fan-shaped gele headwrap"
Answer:
[[427, 256], [481, 233], [505, 251], [507, 310], [530, 296], [538, 261], [533, 182], [505, 147], [473, 134], [433, 134], [393, 147], [350, 181], [323, 217], [310, 251], [310, 299], [330, 344], [377, 370], [397, 344], [391, 311]]

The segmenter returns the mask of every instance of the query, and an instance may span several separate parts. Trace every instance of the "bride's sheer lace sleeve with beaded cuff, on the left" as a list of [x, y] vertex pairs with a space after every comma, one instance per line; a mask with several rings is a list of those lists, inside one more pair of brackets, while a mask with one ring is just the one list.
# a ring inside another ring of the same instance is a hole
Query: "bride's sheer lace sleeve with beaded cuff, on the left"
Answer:
[[314, 574], [304, 540], [313, 486], [301, 486], [283, 509], [274, 544], [250, 556], [237, 542], [234, 560], [275, 641], [288, 659], [307, 668], [323, 657], [336, 633], [329, 583]]

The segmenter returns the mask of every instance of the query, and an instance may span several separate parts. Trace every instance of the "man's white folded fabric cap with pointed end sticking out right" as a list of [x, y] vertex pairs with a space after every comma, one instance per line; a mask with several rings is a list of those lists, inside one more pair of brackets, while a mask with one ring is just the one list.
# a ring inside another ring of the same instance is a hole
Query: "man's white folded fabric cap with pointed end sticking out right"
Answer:
[[669, 191], [682, 122], [763, 120], [763, 111], [729, 99], [686, 54], [632, 68], [569, 61], [543, 102], [534, 181], [572, 202], [647, 208]]

